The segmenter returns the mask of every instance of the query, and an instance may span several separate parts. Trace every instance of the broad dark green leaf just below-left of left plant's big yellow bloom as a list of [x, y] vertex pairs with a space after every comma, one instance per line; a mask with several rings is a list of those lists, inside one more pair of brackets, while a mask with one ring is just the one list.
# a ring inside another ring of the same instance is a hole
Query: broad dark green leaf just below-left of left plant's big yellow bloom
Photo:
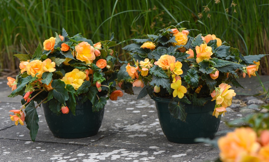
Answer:
[[65, 101], [68, 100], [68, 91], [65, 88], [66, 84], [61, 80], [53, 80], [51, 83], [53, 87], [53, 96], [56, 100], [58, 100], [61, 104], [65, 104]]

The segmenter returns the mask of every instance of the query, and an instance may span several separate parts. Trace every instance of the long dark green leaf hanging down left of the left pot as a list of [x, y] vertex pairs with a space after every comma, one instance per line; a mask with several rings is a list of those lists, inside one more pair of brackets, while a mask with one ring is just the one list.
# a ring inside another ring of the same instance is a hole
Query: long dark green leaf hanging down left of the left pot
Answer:
[[34, 101], [30, 101], [28, 106], [25, 108], [25, 123], [26, 127], [30, 130], [30, 137], [32, 141], [36, 140], [36, 134], [38, 131], [38, 115], [35, 107]]

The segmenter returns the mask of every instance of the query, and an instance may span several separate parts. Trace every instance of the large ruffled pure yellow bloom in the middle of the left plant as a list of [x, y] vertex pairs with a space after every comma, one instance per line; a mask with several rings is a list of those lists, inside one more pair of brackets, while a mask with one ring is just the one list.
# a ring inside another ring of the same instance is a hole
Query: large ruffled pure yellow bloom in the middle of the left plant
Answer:
[[66, 73], [65, 76], [61, 79], [65, 84], [72, 85], [75, 90], [78, 90], [86, 79], [86, 74], [79, 69], [74, 69], [73, 71]]

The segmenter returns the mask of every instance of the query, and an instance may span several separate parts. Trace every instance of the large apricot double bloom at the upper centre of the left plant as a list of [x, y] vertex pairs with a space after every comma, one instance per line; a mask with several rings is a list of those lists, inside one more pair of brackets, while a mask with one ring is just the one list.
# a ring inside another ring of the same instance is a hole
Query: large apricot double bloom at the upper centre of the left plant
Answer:
[[81, 42], [75, 46], [76, 58], [80, 61], [85, 61], [87, 64], [91, 64], [95, 60], [95, 49], [88, 42]]

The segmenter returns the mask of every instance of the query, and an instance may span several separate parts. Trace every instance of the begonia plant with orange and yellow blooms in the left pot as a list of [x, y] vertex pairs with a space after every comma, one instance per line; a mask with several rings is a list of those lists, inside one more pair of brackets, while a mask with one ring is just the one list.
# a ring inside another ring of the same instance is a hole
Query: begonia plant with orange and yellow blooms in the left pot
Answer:
[[[113, 39], [113, 35], [111, 40]], [[39, 44], [31, 54], [15, 54], [20, 60], [19, 75], [16, 79], [7, 77], [12, 87], [9, 97], [23, 96], [22, 107], [11, 110], [11, 120], [30, 130], [32, 141], [38, 131], [36, 108], [49, 101], [49, 109], [56, 114], [72, 113], [78, 102], [90, 100], [92, 111], [104, 109], [107, 100], [117, 100], [122, 96], [116, 89], [117, 53], [111, 49], [115, 41], [105, 40], [93, 44], [92, 40], [81, 34], [50, 37], [43, 43], [43, 52]], [[36, 105], [34, 103], [36, 101]], [[70, 112], [69, 112], [70, 110]]]

